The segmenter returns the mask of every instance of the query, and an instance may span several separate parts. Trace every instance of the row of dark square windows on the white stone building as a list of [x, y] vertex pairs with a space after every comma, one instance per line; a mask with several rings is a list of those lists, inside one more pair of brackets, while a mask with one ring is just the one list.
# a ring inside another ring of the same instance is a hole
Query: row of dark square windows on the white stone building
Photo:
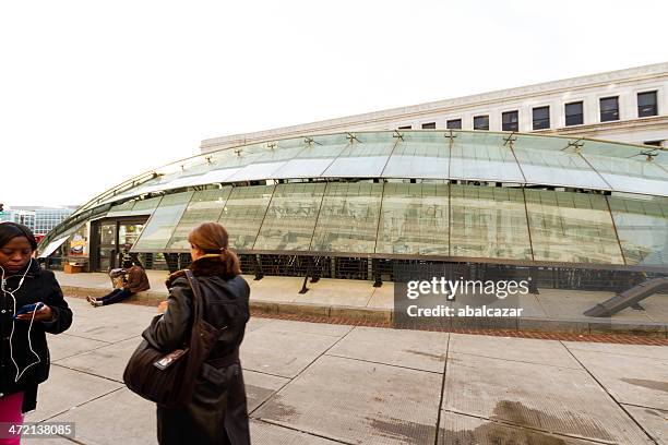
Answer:
[[[610, 122], [619, 120], [619, 96], [600, 98], [600, 121]], [[582, 125], [584, 123], [584, 101], [573, 101], [564, 105], [565, 125]], [[646, 118], [658, 115], [657, 92], [637, 94], [637, 117]], [[545, 130], [550, 128], [550, 107], [536, 107], [532, 109], [533, 129]], [[489, 130], [489, 115], [474, 116], [474, 130]], [[449, 130], [461, 130], [462, 119], [451, 119], [446, 122]], [[411, 125], [399, 127], [399, 130], [410, 130]], [[436, 129], [436, 122], [422, 123], [422, 129]], [[501, 113], [502, 131], [520, 131], [520, 111], [505, 111]]]

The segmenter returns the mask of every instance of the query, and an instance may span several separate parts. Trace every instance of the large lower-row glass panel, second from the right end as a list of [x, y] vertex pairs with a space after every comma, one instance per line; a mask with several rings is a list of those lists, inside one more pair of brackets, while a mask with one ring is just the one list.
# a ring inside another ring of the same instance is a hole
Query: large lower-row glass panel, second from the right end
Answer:
[[525, 190], [535, 261], [624, 264], [604, 195]]

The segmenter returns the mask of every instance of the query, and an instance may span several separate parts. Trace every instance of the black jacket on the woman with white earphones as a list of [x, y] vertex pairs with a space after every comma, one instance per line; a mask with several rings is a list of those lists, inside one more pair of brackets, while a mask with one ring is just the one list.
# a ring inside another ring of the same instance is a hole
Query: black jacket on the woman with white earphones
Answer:
[[[21, 277], [25, 269], [20, 273], [5, 276], [5, 290], [0, 291], [0, 393], [10, 395], [23, 390], [23, 412], [35, 409], [37, 405], [37, 385], [49, 376], [49, 348], [47, 347], [46, 333], [60, 334], [72, 324], [72, 311], [62, 297], [60, 286], [51, 270], [44, 270], [36, 261], [27, 266], [23, 286], [16, 291]], [[29, 303], [44, 302], [51, 308], [53, 318], [50, 322], [35, 322], [29, 329], [31, 340], [35, 354], [28, 346], [29, 322], [14, 321], [14, 301], [9, 293], [14, 291], [16, 310]], [[23, 371], [31, 365], [15, 382], [17, 372], [12, 362], [10, 353], [10, 335], [12, 336], [13, 358], [20, 370]], [[39, 362], [37, 362], [39, 360]]]

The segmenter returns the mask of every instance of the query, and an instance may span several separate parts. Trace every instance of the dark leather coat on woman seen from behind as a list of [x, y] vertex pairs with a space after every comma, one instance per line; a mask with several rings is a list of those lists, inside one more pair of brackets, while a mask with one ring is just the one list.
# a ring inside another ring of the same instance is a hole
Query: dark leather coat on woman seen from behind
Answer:
[[[202, 372], [195, 378], [192, 401], [183, 409], [158, 406], [160, 444], [250, 444], [248, 409], [239, 346], [250, 317], [250, 287], [241, 277], [225, 276], [218, 257], [203, 257], [189, 267], [200, 282], [203, 318], [223, 328]], [[156, 316], [142, 336], [169, 352], [190, 341], [192, 289], [183, 270], [170, 275], [168, 309]]]

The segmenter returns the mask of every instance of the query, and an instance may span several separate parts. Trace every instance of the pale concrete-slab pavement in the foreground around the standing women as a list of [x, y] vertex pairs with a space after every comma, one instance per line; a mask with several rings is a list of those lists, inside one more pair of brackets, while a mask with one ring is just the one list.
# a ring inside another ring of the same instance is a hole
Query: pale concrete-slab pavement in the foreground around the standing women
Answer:
[[[155, 309], [68, 301], [74, 324], [49, 336], [26, 421], [74, 422], [81, 444], [156, 443], [155, 406], [121, 378]], [[241, 361], [253, 444], [668, 444], [668, 347], [254, 317]]]

